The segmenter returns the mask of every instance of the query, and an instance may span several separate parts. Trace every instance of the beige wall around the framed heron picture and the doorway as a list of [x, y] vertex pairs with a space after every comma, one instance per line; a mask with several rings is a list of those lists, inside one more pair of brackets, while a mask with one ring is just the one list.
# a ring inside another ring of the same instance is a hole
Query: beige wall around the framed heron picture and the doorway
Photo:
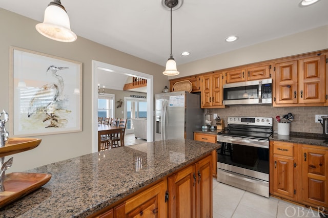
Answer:
[[[161, 73], [164, 67], [158, 64], [82, 37], [71, 43], [48, 39], [35, 30], [37, 23], [0, 8], [0, 110], [9, 112], [9, 46], [80, 61], [83, 62], [83, 132], [35, 136], [42, 139], [41, 144], [32, 150], [13, 155], [13, 165], [8, 171], [31, 169], [92, 152], [92, 60], [154, 75], [154, 93], [160, 93], [169, 84], [168, 77]], [[9, 125], [9, 122], [6, 123], [7, 130], [10, 129]]]

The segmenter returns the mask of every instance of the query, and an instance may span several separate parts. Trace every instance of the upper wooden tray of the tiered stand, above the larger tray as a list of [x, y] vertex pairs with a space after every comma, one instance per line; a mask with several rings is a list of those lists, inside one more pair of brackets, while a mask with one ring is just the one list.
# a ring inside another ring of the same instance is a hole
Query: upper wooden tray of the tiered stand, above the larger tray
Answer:
[[0, 147], [0, 157], [13, 155], [22, 151], [30, 150], [37, 147], [41, 139], [33, 138], [9, 138], [5, 147]]

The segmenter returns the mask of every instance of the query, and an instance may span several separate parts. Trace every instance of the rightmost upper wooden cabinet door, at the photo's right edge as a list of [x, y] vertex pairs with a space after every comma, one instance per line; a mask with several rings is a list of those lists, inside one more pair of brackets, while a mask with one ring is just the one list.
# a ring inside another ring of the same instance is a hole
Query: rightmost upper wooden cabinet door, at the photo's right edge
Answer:
[[299, 103], [325, 102], [325, 55], [299, 60]]

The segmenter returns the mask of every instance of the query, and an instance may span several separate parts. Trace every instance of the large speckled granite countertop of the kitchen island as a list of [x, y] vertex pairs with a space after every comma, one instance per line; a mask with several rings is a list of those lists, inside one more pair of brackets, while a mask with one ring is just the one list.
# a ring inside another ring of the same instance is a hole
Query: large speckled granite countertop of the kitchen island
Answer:
[[1, 217], [86, 217], [179, 168], [219, 144], [188, 139], [95, 152], [28, 172], [51, 173], [43, 187], [0, 210]]

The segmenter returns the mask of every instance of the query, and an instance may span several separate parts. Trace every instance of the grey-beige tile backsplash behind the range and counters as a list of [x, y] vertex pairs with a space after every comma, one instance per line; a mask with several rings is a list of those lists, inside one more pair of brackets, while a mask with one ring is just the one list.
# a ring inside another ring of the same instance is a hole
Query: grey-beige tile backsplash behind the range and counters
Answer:
[[294, 121], [291, 122], [290, 127], [291, 132], [321, 134], [322, 126], [320, 123], [315, 123], [315, 115], [328, 114], [328, 107], [273, 107], [272, 105], [243, 105], [204, 110], [204, 114], [208, 112], [219, 115], [226, 125], [229, 116], [272, 117], [274, 121], [273, 129], [275, 131], [277, 130], [277, 121], [275, 117], [277, 115], [283, 116], [290, 112], [294, 115]]

